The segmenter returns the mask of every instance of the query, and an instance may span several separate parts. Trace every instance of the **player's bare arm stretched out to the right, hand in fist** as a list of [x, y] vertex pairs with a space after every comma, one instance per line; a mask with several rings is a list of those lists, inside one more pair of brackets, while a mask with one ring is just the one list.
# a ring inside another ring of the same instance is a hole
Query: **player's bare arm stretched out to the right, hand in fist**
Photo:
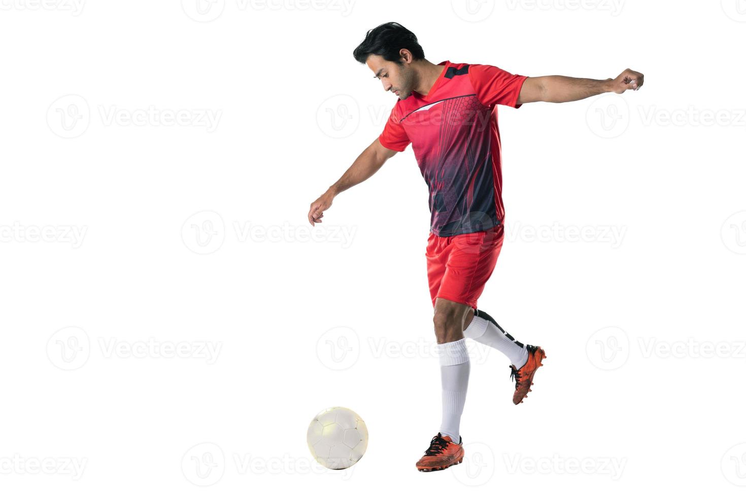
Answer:
[[614, 79], [591, 80], [585, 77], [540, 76], [527, 77], [518, 95], [518, 104], [530, 102], [572, 102], [583, 100], [600, 93], [624, 93], [628, 89], [640, 89], [644, 76], [642, 73], [625, 69]]

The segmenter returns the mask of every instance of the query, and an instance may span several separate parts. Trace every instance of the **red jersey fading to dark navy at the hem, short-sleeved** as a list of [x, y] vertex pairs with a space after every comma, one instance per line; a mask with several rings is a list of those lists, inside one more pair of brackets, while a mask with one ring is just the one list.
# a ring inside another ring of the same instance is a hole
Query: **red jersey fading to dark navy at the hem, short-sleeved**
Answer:
[[497, 104], [521, 107], [527, 76], [483, 64], [438, 65], [444, 68], [430, 92], [397, 101], [378, 139], [399, 152], [412, 143], [430, 190], [430, 232], [483, 231], [505, 216]]

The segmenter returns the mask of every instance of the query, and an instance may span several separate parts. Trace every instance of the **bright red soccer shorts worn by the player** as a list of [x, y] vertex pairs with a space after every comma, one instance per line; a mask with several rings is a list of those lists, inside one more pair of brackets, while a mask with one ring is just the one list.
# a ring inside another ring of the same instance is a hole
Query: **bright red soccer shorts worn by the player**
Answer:
[[435, 307], [436, 298], [477, 308], [484, 284], [492, 276], [503, 247], [503, 224], [473, 233], [427, 238], [427, 281]]

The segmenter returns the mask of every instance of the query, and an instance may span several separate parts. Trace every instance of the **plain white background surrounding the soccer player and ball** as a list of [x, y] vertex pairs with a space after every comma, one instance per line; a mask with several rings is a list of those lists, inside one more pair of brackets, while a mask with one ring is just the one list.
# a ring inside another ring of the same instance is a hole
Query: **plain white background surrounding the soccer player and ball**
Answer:
[[[3, 495], [742, 495], [746, 2], [268, 2], [0, 1]], [[645, 73], [501, 107], [479, 308], [547, 367], [515, 406], [470, 341], [466, 458], [431, 474], [411, 146], [307, 223], [395, 103], [352, 57], [388, 21], [432, 63]], [[335, 405], [370, 433], [345, 472], [306, 445]]]

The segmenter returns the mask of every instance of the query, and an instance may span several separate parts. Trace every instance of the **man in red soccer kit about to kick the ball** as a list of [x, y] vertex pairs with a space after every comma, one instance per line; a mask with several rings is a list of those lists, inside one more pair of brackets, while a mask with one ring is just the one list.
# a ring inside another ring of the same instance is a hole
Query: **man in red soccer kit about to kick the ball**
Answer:
[[515, 380], [513, 403], [523, 402], [546, 357], [524, 345], [484, 311], [477, 298], [492, 275], [504, 239], [502, 165], [497, 105], [570, 102], [604, 92], [639, 89], [643, 75], [626, 69], [614, 79], [526, 77], [482, 64], [439, 64], [424, 58], [417, 37], [396, 22], [366, 34], [353, 55], [383, 89], [398, 95], [383, 132], [345, 174], [311, 203], [308, 221], [321, 223], [333, 198], [371, 177], [386, 160], [412, 143], [430, 189], [427, 278], [441, 370], [442, 424], [417, 461], [420, 471], [445, 469], [463, 460], [459, 425], [466, 401], [469, 359], [466, 338], [503, 352]]

